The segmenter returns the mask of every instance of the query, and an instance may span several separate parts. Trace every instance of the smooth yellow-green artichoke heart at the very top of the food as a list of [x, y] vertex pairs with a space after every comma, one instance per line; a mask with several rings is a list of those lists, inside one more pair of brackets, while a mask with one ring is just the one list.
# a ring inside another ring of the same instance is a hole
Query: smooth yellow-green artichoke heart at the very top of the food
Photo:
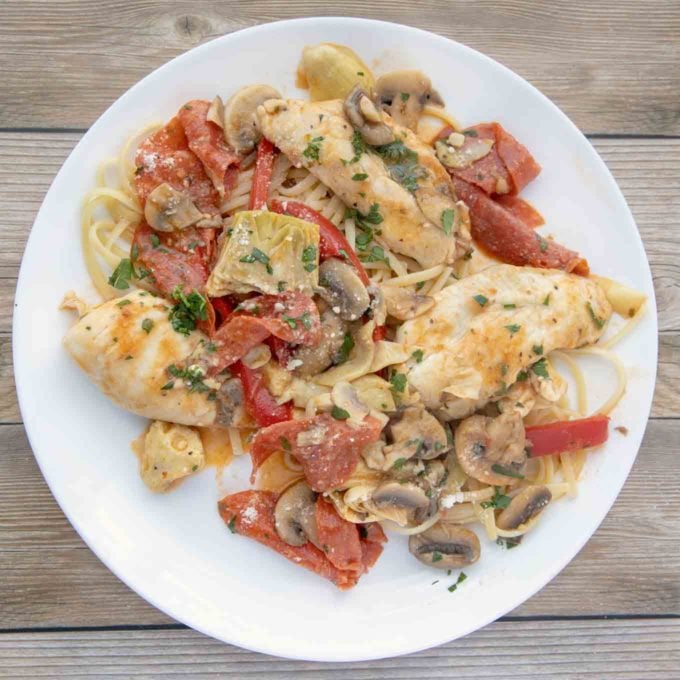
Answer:
[[371, 92], [375, 85], [373, 74], [361, 58], [349, 47], [335, 43], [305, 47], [298, 79], [309, 87], [314, 102], [344, 99], [355, 85]]

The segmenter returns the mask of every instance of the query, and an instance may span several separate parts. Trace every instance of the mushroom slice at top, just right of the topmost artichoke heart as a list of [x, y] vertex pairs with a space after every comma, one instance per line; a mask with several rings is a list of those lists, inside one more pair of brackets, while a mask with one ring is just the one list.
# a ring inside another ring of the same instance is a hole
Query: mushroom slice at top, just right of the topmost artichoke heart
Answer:
[[444, 104], [432, 88], [432, 81], [422, 71], [413, 69], [390, 71], [380, 76], [375, 84], [375, 96], [379, 106], [395, 123], [414, 132], [427, 104]]

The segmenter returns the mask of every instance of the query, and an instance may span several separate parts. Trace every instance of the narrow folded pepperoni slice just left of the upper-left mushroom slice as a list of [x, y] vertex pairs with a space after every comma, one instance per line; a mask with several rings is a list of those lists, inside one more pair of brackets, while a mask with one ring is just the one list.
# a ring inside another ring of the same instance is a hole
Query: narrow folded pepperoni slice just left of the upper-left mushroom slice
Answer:
[[193, 99], [177, 116], [189, 140], [189, 148], [201, 160], [215, 189], [224, 197], [236, 184], [240, 156], [227, 146], [221, 128], [208, 120], [209, 108], [210, 102]]

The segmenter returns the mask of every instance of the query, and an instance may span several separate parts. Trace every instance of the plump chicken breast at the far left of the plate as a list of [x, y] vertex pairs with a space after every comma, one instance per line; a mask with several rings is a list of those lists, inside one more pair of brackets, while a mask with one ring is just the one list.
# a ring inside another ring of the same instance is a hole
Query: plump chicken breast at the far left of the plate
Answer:
[[[92, 382], [126, 411], [182, 425], [212, 425], [217, 400], [209, 400], [208, 391], [190, 391], [167, 370], [206, 337], [199, 331], [189, 336], [175, 331], [169, 309], [167, 300], [144, 291], [109, 300], [66, 333], [64, 346]], [[161, 389], [170, 382], [172, 388]]]

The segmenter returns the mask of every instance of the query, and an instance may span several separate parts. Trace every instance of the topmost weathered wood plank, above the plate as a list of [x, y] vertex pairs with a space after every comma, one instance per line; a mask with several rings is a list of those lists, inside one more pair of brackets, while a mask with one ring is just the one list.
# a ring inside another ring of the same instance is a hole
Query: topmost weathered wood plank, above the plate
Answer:
[[440, 33], [539, 87], [588, 132], [678, 134], [674, 0], [3, 3], [0, 126], [87, 127], [157, 66], [206, 40], [300, 16], [363, 16]]

